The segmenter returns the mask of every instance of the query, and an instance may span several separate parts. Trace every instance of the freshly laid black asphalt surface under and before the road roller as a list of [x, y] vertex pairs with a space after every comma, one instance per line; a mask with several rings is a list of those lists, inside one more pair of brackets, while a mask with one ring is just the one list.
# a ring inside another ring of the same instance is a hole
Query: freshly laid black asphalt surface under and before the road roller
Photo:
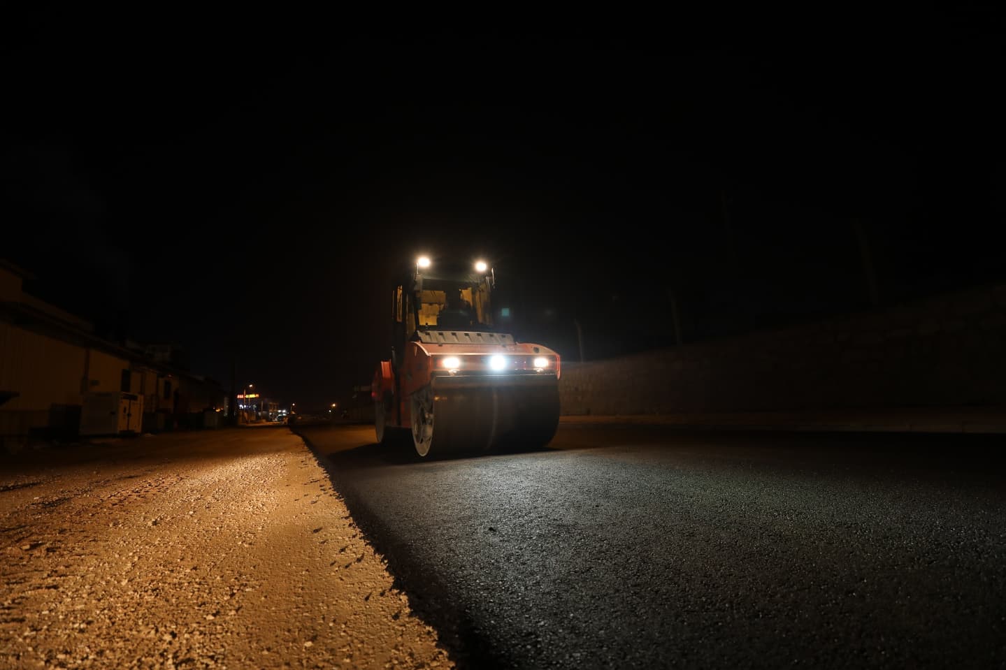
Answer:
[[1006, 436], [295, 430], [460, 668], [1006, 667]]

